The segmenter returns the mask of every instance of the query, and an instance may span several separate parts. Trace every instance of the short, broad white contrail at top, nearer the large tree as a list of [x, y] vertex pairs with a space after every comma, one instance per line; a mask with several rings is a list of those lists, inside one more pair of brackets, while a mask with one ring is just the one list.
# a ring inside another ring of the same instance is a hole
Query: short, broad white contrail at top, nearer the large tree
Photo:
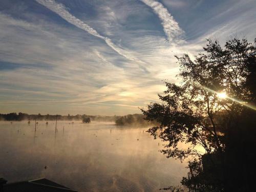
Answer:
[[151, 7], [162, 21], [163, 30], [168, 41], [179, 38], [184, 31], [179, 27], [174, 17], [168, 12], [163, 4], [154, 0], [141, 0], [144, 4]]

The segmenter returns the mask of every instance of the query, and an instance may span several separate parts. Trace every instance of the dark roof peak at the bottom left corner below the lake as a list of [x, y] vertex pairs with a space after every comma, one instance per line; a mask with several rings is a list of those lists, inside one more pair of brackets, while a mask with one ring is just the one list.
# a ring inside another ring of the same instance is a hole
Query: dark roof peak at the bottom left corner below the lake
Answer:
[[22, 181], [16, 183], [5, 184], [3, 186], [4, 192], [57, 192], [57, 191], [77, 191], [50, 181], [45, 178]]

